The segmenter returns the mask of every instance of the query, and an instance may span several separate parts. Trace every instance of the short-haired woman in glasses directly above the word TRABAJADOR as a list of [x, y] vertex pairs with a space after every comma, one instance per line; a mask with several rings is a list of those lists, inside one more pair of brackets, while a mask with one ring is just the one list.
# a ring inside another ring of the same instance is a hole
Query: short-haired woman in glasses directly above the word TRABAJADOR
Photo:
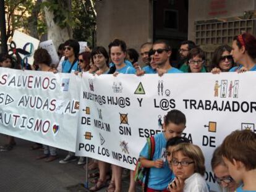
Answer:
[[205, 53], [202, 49], [196, 47], [189, 51], [188, 55], [189, 59], [189, 69], [187, 72], [189, 73], [203, 73], [207, 72], [204, 64], [205, 64]]

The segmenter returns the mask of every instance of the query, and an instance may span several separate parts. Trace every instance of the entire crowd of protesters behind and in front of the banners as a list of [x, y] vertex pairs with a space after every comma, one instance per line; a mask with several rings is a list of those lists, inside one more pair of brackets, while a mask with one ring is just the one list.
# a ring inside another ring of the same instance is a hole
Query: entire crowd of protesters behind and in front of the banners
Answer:
[[[115, 39], [109, 43], [108, 51], [103, 46], [79, 53], [79, 43], [67, 40], [58, 49], [60, 63], [51, 65], [51, 56], [46, 49], [37, 49], [34, 53], [34, 64], [30, 69], [14, 61], [8, 54], [1, 55], [1, 67], [23, 70], [41, 70], [53, 73], [93, 73], [96, 75], [119, 73], [158, 74], [165, 73], [220, 73], [245, 72], [256, 70], [256, 38], [249, 33], [235, 36], [232, 47], [221, 45], [216, 48], [211, 61], [206, 61], [205, 52], [193, 41], [182, 41], [179, 49], [179, 61], [172, 62], [171, 45], [164, 40], [144, 43], [140, 54], [135, 49], [127, 49], [126, 43]], [[139, 63], [141, 57], [142, 63]], [[207, 65], [206, 65], [207, 64]], [[150, 169], [147, 184], [142, 184], [144, 191], [210, 191], [203, 178], [205, 174], [205, 159], [202, 150], [182, 138], [186, 128], [186, 117], [181, 111], [172, 110], [166, 114], [163, 123], [163, 133], [153, 136], [155, 152], [150, 159], [148, 143], [140, 152], [140, 162]], [[0, 151], [9, 151], [15, 146], [15, 138], [7, 136], [7, 144], [0, 146]], [[34, 143], [32, 149], [43, 149], [43, 154], [36, 159], [51, 162], [58, 159], [57, 149], [39, 143]], [[161, 154], [166, 150], [166, 161]], [[211, 160], [215, 173], [215, 181], [221, 190], [226, 191], [256, 191], [256, 134], [250, 130], [234, 131], [228, 135], [221, 146], [216, 148]], [[85, 157], [76, 157], [74, 152], [60, 160], [60, 164], [78, 161], [85, 164]], [[89, 170], [98, 169], [89, 177], [93, 178], [94, 186], [90, 191], [98, 191], [108, 186], [106, 191], [122, 191], [122, 176], [130, 174], [129, 192], [135, 191], [134, 171], [122, 169], [103, 161], [92, 159]], [[110, 180], [110, 181], [109, 181]]]

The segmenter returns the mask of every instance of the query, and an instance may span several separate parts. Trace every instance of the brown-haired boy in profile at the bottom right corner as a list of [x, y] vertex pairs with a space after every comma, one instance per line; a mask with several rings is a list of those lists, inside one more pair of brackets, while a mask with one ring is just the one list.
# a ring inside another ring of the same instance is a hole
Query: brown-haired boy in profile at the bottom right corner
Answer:
[[221, 144], [223, 161], [236, 183], [236, 192], [256, 191], [256, 133], [233, 131]]

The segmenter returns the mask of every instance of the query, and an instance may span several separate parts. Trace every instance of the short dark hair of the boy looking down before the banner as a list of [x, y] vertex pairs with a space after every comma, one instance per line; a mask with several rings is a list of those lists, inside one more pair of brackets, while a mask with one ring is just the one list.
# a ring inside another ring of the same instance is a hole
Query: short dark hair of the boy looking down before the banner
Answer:
[[173, 109], [164, 117], [164, 123], [165, 125], [168, 125], [169, 123], [186, 125], [186, 116], [181, 111]]

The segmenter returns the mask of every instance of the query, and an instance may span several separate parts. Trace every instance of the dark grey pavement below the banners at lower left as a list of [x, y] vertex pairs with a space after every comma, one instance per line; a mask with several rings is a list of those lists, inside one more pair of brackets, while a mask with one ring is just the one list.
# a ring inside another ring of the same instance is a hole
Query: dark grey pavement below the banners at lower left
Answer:
[[[59, 149], [59, 159], [47, 163], [35, 160], [43, 151], [31, 150], [32, 142], [20, 139], [15, 141], [17, 144], [12, 151], [0, 152], [0, 191], [88, 191], [78, 185], [85, 182], [83, 165], [77, 165], [77, 162], [59, 164], [59, 160], [66, 156], [66, 151]], [[5, 143], [6, 137], [0, 134], [0, 145]], [[122, 182], [122, 191], [128, 191], [128, 188], [129, 180], [126, 179]], [[106, 191], [106, 188], [99, 191]]]

